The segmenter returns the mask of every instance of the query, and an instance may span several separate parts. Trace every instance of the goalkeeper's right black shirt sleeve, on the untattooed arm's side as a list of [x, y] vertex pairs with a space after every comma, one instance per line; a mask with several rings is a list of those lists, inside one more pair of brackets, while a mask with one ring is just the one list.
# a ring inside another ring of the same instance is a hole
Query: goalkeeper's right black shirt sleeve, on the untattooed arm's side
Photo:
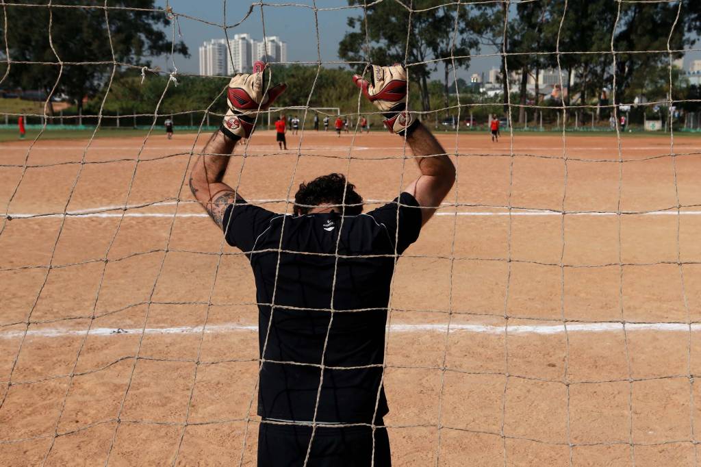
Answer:
[[421, 208], [416, 198], [407, 192], [402, 193], [391, 203], [368, 212], [367, 215], [372, 216], [378, 224], [385, 226], [390, 241], [397, 243], [397, 253], [400, 255], [416, 241], [421, 232]]

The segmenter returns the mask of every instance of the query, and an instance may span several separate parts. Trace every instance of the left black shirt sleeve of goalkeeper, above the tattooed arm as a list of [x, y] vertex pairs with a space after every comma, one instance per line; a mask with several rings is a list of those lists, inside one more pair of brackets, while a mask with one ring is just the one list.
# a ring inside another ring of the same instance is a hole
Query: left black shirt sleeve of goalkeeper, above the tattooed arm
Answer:
[[243, 252], [253, 249], [256, 239], [270, 226], [274, 212], [259, 206], [248, 204], [243, 200], [229, 205], [224, 211], [224, 237], [226, 243]]

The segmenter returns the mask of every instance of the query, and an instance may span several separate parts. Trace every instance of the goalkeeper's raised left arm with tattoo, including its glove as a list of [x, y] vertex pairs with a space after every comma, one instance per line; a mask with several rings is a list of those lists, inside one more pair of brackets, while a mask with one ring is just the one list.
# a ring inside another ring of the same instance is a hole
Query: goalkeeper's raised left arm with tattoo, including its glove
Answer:
[[241, 138], [250, 137], [260, 110], [267, 110], [285, 91], [285, 84], [266, 89], [263, 62], [255, 62], [253, 73], [234, 76], [226, 89], [229, 111], [221, 128], [205, 145], [190, 173], [190, 189], [219, 227], [224, 224], [226, 206], [243, 201], [234, 189], [222, 182], [229, 157]]

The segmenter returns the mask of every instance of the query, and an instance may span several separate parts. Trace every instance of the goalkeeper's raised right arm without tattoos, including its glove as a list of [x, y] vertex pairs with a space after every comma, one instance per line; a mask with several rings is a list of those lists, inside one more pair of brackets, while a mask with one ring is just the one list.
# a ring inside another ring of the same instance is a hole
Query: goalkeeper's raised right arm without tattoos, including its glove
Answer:
[[385, 126], [391, 133], [406, 137], [414, 152], [421, 176], [406, 190], [421, 205], [421, 222], [440, 207], [455, 182], [455, 166], [433, 134], [407, 111], [407, 72], [401, 65], [372, 65], [370, 81], [353, 76], [355, 84], [375, 107], [382, 111]]

